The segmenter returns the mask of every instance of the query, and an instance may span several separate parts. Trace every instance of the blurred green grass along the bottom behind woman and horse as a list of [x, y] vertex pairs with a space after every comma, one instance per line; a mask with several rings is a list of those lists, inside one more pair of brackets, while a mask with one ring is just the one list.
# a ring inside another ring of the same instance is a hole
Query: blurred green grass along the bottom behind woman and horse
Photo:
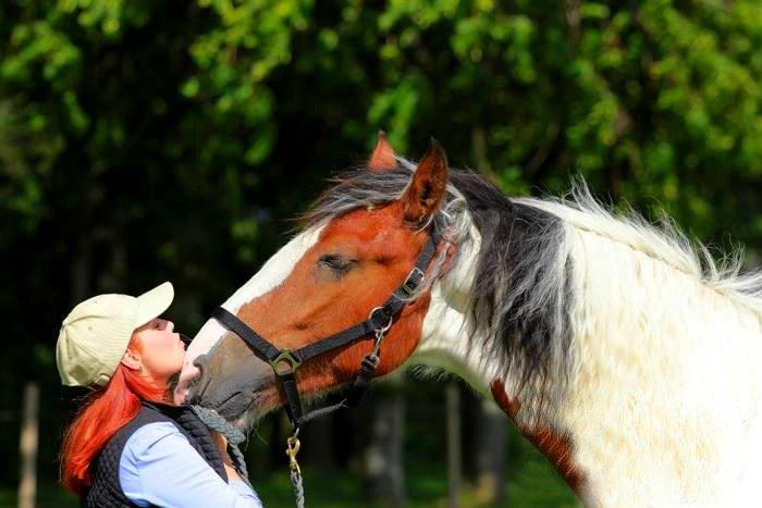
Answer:
[[[579, 504], [549, 462], [529, 444], [521, 444], [516, 454], [520, 460], [511, 464], [506, 481], [506, 498], [501, 507], [509, 508], [574, 508]], [[406, 464], [409, 508], [444, 508], [447, 506], [446, 471], [440, 462]], [[263, 476], [253, 478], [254, 485], [267, 508], [292, 508], [294, 494], [285, 468]], [[360, 480], [342, 471], [306, 470], [304, 479], [306, 504], [310, 508], [345, 508], [368, 506], [361, 497]], [[0, 490], [0, 507], [15, 507], [16, 493]], [[76, 499], [50, 484], [40, 486], [38, 508], [74, 508]], [[466, 485], [460, 496], [462, 508], [477, 508], [474, 493]]]

